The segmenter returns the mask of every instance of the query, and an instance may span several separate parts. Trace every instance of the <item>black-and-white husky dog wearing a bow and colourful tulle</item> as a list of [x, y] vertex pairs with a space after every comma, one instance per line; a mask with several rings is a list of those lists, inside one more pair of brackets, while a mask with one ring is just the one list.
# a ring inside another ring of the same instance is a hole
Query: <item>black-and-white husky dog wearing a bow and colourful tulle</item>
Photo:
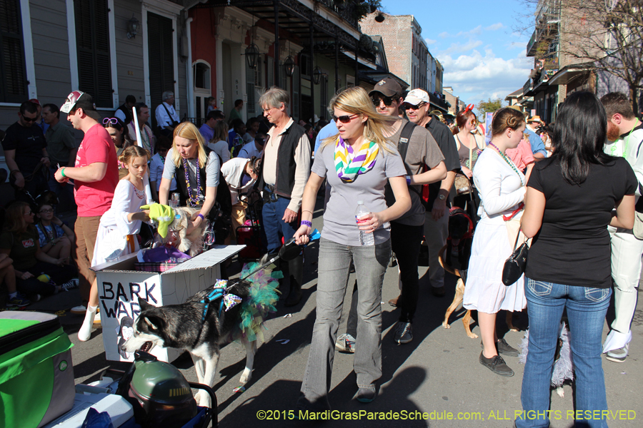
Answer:
[[[250, 283], [230, 280], [227, 292], [245, 300], [250, 295]], [[212, 300], [206, 309], [203, 300], [212, 288], [199, 291], [180, 305], [156, 307], [139, 297], [141, 313], [134, 323], [134, 334], [121, 345], [121, 350], [134, 352], [144, 350], [149, 352], [154, 346], [173, 347], [190, 353], [196, 377], [200, 384], [214, 386], [214, 377], [219, 362], [219, 345], [225, 343], [239, 324], [242, 305], [235, 305], [229, 310], [221, 310], [221, 299]], [[206, 312], [204, 313], [204, 310]], [[241, 384], [249, 382], [256, 352], [256, 340], [250, 342], [241, 337], [246, 347], [246, 368], [241, 374]], [[206, 393], [197, 394], [199, 406], [209, 407], [210, 397]]]

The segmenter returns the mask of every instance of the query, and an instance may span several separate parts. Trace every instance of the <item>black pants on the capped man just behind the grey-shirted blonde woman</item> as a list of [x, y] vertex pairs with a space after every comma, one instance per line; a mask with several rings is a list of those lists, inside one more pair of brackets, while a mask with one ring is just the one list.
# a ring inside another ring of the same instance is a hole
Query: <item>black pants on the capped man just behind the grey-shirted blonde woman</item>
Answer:
[[399, 265], [402, 295], [398, 306], [402, 310], [399, 320], [412, 322], [419, 295], [417, 263], [424, 226], [409, 226], [391, 222], [391, 245]]

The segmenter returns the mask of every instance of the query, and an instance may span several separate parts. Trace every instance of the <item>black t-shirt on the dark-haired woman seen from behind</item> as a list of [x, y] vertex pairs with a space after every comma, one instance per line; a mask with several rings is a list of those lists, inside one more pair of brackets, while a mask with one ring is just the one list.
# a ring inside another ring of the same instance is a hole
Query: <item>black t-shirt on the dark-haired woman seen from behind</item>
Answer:
[[581, 185], [564, 180], [557, 158], [534, 165], [527, 185], [544, 194], [542, 228], [529, 249], [525, 275], [564, 285], [612, 286], [607, 225], [612, 210], [638, 182], [624, 158], [592, 164]]

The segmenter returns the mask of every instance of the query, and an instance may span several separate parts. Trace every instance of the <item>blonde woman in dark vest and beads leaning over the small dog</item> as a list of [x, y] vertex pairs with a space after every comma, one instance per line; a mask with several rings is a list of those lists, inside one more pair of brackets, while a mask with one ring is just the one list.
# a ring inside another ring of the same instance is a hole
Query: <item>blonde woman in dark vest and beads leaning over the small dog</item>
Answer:
[[179, 204], [200, 208], [191, 218], [192, 227], [198, 227], [214, 207], [220, 168], [219, 156], [205, 146], [194, 123], [179, 123], [174, 128], [174, 142], [165, 158], [159, 202], [167, 205], [171, 179], [176, 175]]

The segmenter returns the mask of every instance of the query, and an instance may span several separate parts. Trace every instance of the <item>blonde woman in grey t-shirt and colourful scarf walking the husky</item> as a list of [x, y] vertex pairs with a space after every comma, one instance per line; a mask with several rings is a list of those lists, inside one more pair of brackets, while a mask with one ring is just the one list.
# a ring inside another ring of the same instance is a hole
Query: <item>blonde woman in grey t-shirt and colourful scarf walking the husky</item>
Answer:
[[[406, 170], [385, 133], [391, 120], [375, 111], [362, 88], [349, 88], [330, 103], [339, 133], [317, 151], [301, 203], [301, 226], [294, 237], [307, 243], [317, 190], [324, 178], [331, 186], [319, 244], [316, 321], [297, 407], [330, 409], [334, 344], [342, 303], [354, 263], [359, 282], [359, 347], [355, 353], [360, 402], [375, 398], [382, 376], [382, 281], [391, 256], [389, 221], [411, 206]], [[395, 119], [395, 118], [394, 118]], [[395, 203], [387, 208], [384, 186], [390, 183]], [[363, 203], [369, 213], [357, 219]], [[357, 225], [356, 219], [358, 220]], [[369, 245], [370, 243], [370, 245]]]

